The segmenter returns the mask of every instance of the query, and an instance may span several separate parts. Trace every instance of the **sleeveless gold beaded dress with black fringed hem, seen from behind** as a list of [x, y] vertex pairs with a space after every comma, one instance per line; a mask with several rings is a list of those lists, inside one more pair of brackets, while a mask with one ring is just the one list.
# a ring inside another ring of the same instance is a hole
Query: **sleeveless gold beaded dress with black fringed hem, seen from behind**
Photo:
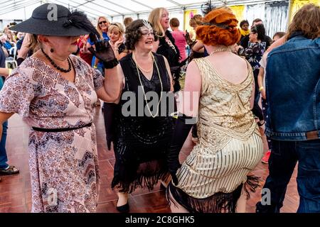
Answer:
[[252, 70], [240, 84], [219, 76], [206, 57], [195, 59], [201, 72], [198, 138], [176, 172], [171, 194], [191, 212], [235, 211], [242, 185], [257, 187], [247, 177], [263, 155], [262, 138], [250, 111]]

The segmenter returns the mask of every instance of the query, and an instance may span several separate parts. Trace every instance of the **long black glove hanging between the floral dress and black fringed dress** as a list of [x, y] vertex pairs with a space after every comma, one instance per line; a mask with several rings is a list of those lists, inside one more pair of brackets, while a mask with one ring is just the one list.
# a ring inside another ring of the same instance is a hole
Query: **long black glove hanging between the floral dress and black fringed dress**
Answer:
[[107, 103], [104, 104], [104, 118], [105, 118], [105, 133], [107, 139], [107, 148], [111, 149], [111, 142], [114, 142], [115, 132], [114, 132], [114, 111], [117, 104]]

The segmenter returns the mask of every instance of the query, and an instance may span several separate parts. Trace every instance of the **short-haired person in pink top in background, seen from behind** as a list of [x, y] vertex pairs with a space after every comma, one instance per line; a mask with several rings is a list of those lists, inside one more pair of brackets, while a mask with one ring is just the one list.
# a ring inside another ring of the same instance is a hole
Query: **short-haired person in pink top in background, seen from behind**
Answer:
[[171, 34], [174, 37], [174, 41], [180, 52], [179, 62], [182, 62], [186, 59], [186, 33], [179, 30], [180, 23], [178, 18], [171, 18], [170, 26], [172, 30]]

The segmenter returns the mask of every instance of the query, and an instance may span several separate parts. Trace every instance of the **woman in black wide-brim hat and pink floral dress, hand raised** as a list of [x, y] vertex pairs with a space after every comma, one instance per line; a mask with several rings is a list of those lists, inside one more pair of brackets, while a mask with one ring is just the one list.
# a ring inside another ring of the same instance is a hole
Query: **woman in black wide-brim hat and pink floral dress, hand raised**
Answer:
[[[112, 102], [117, 99], [112, 94], [119, 93], [112, 48], [97, 42], [84, 13], [55, 4], [39, 6], [11, 29], [33, 34], [31, 45], [40, 45], [0, 92], [0, 124], [17, 113], [31, 127], [32, 211], [95, 212], [99, 171], [93, 106], [97, 98]], [[108, 77], [71, 55], [79, 36], [88, 33]]]

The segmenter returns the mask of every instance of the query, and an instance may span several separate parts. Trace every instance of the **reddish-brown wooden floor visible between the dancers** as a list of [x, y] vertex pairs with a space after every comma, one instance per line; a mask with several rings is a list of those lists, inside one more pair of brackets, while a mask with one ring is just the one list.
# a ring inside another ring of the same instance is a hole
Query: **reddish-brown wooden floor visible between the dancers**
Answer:
[[[102, 111], [100, 107], [95, 111], [95, 125], [97, 126], [97, 149], [100, 160], [101, 181], [98, 212], [117, 212], [117, 194], [112, 191], [110, 185], [113, 177], [114, 154], [106, 149], [105, 128]], [[186, 140], [181, 151], [180, 160], [186, 159], [192, 149], [191, 138]], [[31, 211], [31, 182], [28, 169], [28, 126], [16, 114], [9, 119], [9, 131], [6, 143], [6, 150], [9, 157], [9, 164], [16, 165], [20, 174], [1, 176], [0, 182], [0, 213], [4, 212], [30, 212]], [[265, 148], [267, 150], [267, 148]], [[261, 177], [262, 182], [268, 175], [267, 165], [260, 163], [253, 173]], [[296, 212], [299, 204], [297, 193], [297, 168], [287, 187], [287, 195], [284, 200], [282, 212]], [[260, 200], [261, 189], [247, 201], [247, 212], [255, 212], [255, 204]], [[153, 191], [148, 192], [137, 189], [129, 196], [130, 211], [134, 213], [164, 213], [170, 212], [166, 206], [165, 193], [157, 185]]]

